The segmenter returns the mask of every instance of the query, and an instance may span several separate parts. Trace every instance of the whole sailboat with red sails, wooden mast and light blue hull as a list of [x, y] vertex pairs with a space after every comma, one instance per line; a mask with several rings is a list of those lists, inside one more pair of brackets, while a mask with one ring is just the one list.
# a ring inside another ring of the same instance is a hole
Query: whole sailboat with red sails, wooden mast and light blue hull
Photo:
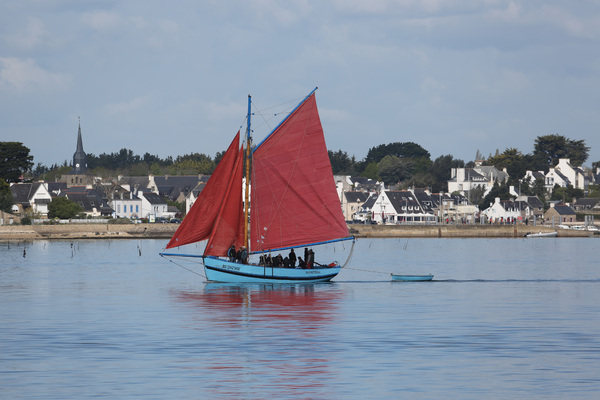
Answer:
[[[166, 246], [207, 240], [204, 253], [161, 256], [200, 258], [207, 280], [215, 282], [326, 282], [340, 272], [337, 261], [317, 262], [312, 250], [354, 239], [348, 235], [337, 195], [316, 90], [256, 147], [248, 96], [245, 147], [240, 147], [238, 131]], [[304, 248], [304, 253], [298, 251], [298, 259], [304, 256], [303, 267], [270, 262], [277, 253], [299, 248]]]

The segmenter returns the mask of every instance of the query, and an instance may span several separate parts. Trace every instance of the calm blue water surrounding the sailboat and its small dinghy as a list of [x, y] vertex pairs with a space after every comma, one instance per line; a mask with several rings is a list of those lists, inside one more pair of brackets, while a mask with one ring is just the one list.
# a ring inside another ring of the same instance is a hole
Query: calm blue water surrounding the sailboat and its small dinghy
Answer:
[[282, 286], [207, 284], [165, 244], [0, 243], [0, 398], [600, 393], [598, 239], [363, 239], [334, 283]]

